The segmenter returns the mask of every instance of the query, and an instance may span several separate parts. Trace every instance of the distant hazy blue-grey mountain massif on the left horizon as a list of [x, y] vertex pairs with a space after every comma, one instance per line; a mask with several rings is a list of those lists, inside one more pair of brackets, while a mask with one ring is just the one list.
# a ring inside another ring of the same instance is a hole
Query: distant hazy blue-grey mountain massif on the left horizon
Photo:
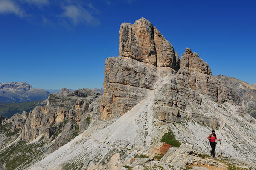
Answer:
[[45, 100], [48, 96], [48, 91], [32, 88], [26, 82], [0, 83], [0, 102], [2, 103]]

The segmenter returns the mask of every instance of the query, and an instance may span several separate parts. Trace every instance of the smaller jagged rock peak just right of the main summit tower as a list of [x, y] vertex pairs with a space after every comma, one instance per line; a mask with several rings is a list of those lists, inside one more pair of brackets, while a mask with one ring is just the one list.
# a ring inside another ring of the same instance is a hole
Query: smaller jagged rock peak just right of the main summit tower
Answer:
[[193, 53], [189, 48], [185, 49], [185, 53], [180, 58], [180, 68], [212, 75], [209, 65], [204, 62], [197, 53]]

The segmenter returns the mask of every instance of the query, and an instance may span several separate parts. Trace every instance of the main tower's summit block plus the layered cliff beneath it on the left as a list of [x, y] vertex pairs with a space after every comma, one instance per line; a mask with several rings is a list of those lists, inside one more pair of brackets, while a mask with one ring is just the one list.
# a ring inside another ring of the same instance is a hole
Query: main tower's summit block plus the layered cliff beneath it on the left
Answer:
[[123, 115], [145, 98], [159, 76], [179, 69], [177, 52], [145, 18], [122, 23], [119, 34], [119, 57], [106, 59], [104, 94], [89, 108], [100, 119]]

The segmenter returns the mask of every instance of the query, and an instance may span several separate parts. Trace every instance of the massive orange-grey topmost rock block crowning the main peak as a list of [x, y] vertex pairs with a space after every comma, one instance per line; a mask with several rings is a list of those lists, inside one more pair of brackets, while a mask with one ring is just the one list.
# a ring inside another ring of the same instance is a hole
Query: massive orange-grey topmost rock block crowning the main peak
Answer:
[[122, 23], [119, 34], [119, 56], [178, 70], [174, 48], [145, 18], [136, 20], [134, 24]]

